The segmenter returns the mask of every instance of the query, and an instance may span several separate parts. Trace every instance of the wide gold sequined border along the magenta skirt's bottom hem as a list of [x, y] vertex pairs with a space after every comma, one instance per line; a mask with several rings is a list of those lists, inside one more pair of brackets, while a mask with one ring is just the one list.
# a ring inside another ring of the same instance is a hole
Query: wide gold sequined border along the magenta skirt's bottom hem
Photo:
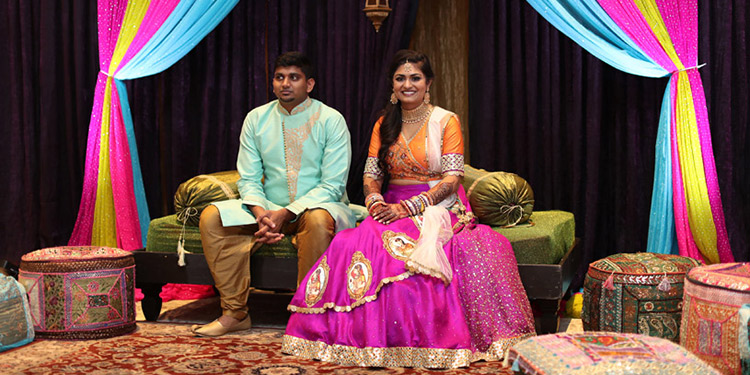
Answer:
[[470, 349], [358, 348], [348, 345], [328, 345], [322, 341], [284, 335], [281, 340], [281, 351], [302, 358], [318, 359], [344, 366], [458, 368], [467, 367], [479, 360], [500, 361], [505, 357], [508, 348], [531, 336], [534, 334], [527, 333], [499, 339], [493, 342], [487, 351], [473, 353]]

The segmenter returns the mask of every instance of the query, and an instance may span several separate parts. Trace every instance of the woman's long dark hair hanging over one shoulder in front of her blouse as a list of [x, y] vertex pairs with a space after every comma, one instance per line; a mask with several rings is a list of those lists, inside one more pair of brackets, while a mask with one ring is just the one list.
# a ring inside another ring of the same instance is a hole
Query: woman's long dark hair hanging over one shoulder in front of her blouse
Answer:
[[[393, 88], [393, 75], [407, 61], [416, 65], [428, 82], [435, 78], [435, 73], [432, 71], [430, 59], [427, 58], [427, 55], [417, 51], [402, 49], [393, 56], [391, 65], [388, 68], [388, 82], [391, 88]], [[401, 133], [401, 102], [399, 101], [396, 104], [391, 103], [390, 95], [388, 99], [382, 111], [383, 122], [380, 124], [380, 149], [378, 150], [378, 167], [384, 173], [383, 191], [385, 191], [391, 177], [386, 164], [388, 149], [396, 142], [398, 135]]]

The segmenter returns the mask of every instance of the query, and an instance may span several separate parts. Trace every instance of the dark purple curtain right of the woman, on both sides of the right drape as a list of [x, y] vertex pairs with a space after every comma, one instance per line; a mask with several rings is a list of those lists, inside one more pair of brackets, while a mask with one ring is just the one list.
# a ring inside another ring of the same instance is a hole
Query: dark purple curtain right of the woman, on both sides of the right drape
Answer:
[[[707, 64], [700, 72], [727, 230], [735, 258], [748, 261], [750, 6], [699, 7], [699, 63]], [[645, 251], [667, 78], [606, 65], [524, 0], [472, 1], [469, 25], [471, 164], [527, 179], [535, 210], [573, 212], [584, 267]]]

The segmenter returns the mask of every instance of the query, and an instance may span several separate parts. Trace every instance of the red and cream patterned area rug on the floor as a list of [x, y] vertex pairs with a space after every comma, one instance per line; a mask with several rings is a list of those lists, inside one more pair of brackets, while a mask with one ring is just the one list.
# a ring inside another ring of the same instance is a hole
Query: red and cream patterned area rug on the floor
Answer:
[[0, 354], [0, 374], [512, 374], [497, 362], [442, 371], [344, 367], [281, 354], [281, 329], [201, 338], [188, 327], [138, 322], [134, 333], [109, 339], [35, 340]]

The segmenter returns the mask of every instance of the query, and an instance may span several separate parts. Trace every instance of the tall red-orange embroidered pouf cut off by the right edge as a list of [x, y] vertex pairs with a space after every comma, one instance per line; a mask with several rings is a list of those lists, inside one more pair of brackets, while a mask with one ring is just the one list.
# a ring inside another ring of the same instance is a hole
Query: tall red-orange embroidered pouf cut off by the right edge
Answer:
[[750, 263], [692, 269], [683, 301], [680, 344], [725, 374], [750, 373]]

